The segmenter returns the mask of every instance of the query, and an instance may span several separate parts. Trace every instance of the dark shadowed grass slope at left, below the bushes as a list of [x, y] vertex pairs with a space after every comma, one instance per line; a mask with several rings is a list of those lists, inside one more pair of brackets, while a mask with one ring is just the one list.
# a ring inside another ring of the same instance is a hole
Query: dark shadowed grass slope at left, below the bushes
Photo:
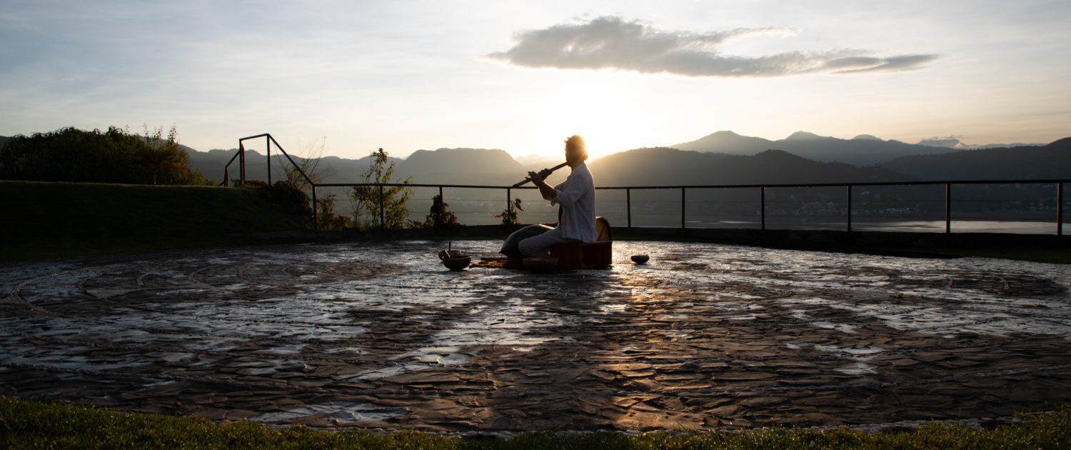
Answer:
[[0, 264], [248, 243], [304, 227], [266, 190], [0, 181]]

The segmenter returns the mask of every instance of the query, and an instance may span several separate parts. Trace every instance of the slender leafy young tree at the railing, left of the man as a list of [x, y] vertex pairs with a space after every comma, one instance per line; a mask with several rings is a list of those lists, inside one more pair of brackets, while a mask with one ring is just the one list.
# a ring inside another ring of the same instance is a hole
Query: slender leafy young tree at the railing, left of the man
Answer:
[[[392, 183], [394, 162], [387, 158], [383, 149], [372, 152], [372, 163], [364, 171], [364, 182], [378, 185], [353, 186], [350, 199], [353, 204], [353, 223], [358, 228], [369, 229], [377, 225], [382, 228], [402, 228], [409, 218], [405, 204], [412, 197], [412, 190], [406, 186], [386, 186]], [[409, 184], [406, 178], [401, 184]]]

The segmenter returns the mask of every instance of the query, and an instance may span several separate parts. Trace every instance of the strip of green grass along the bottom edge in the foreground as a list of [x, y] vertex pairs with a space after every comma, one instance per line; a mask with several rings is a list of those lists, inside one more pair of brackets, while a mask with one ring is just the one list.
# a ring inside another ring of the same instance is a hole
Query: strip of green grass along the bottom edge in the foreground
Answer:
[[0, 448], [377, 448], [377, 449], [757, 449], [757, 448], [1071, 448], [1071, 406], [1019, 415], [990, 430], [933, 423], [915, 431], [865, 433], [846, 428], [745, 432], [524, 433], [510, 438], [403, 431], [276, 429], [256, 422], [122, 412], [0, 396]]

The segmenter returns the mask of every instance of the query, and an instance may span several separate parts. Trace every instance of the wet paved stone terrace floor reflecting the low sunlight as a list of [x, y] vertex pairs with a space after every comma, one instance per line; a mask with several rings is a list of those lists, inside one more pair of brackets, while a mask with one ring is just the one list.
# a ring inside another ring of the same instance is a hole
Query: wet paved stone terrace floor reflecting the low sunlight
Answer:
[[0, 394], [448, 432], [868, 424], [1071, 401], [1068, 266], [615, 242], [605, 270], [451, 272], [441, 246], [0, 268]]

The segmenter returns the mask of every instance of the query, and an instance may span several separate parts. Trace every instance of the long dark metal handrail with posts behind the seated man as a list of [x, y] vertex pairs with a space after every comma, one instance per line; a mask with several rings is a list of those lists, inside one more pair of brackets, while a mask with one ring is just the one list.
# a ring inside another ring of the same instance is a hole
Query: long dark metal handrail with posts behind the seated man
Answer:
[[[318, 204], [316, 201], [317, 190], [321, 188], [355, 188], [355, 186], [379, 186], [380, 189], [380, 212], [383, 211], [383, 198], [382, 198], [382, 188], [384, 186], [405, 186], [405, 188], [438, 188], [439, 195], [442, 195], [442, 189], [495, 189], [495, 190], [506, 190], [506, 201], [507, 208], [512, 208], [511, 192], [512, 190], [536, 190], [536, 186], [508, 186], [508, 185], [486, 185], [486, 184], [446, 184], [446, 183], [315, 183], [313, 179], [301, 169], [301, 166], [290, 156], [283, 146], [278, 145], [278, 141], [269, 134], [261, 133], [254, 136], [243, 137], [239, 139], [239, 151], [230, 159], [227, 165], [224, 167], [224, 185], [228, 185], [229, 167], [235, 162], [236, 159], [240, 159], [241, 162], [241, 182], [245, 182], [245, 146], [244, 141], [250, 139], [266, 138], [267, 141], [267, 153], [268, 153], [268, 177], [269, 183], [271, 182], [271, 145], [274, 144], [280, 151], [286, 156], [286, 159], [293, 165], [295, 168], [301, 174], [308, 185], [312, 188], [312, 201], [313, 201], [313, 227], [316, 231], [319, 231], [319, 225], [317, 221], [318, 215]], [[757, 189], [759, 192], [759, 228], [766, 230], [766, 209], [767, 209], [767, 189], [808, 189], [808, 188], [842, 188], [845, 190], [845, 229], [847, 231], [853, 230], [853, 189], [855, 188], [866, 188], [866, 186], [920, 186], [920, 185], [944, 185], [944, 209], [945, 209], [945, 232], [952, 232], [952, 185], [956, 184], [1056, 184], [1056, 235], [1064, 235], [1064, 184], [1071, 182], [1069, 179], [1042, 179], [1042, 180], [1008, 180], [1008, 179], [996, 179], [996, 180], [923, 180], [923, 181], [866, 181], [866, 182], [848, 182], [848, 183], [772, 183], [772, 184], [688, 184], [688, 185], [634, 185], [634, 186], [595, 186], [595, 190], [600, 191], [625, 191], [625, 215], [628, 218], [628, 227], [632, 227], [632, 191], [633, 190], [680, 190], [680, 227], [687, 228], [687, 196], [685, 192], [688, 190], [720, 190], [720, 189]], [[384, 227], [384, 221], [380, 216], [380, 227]]]

